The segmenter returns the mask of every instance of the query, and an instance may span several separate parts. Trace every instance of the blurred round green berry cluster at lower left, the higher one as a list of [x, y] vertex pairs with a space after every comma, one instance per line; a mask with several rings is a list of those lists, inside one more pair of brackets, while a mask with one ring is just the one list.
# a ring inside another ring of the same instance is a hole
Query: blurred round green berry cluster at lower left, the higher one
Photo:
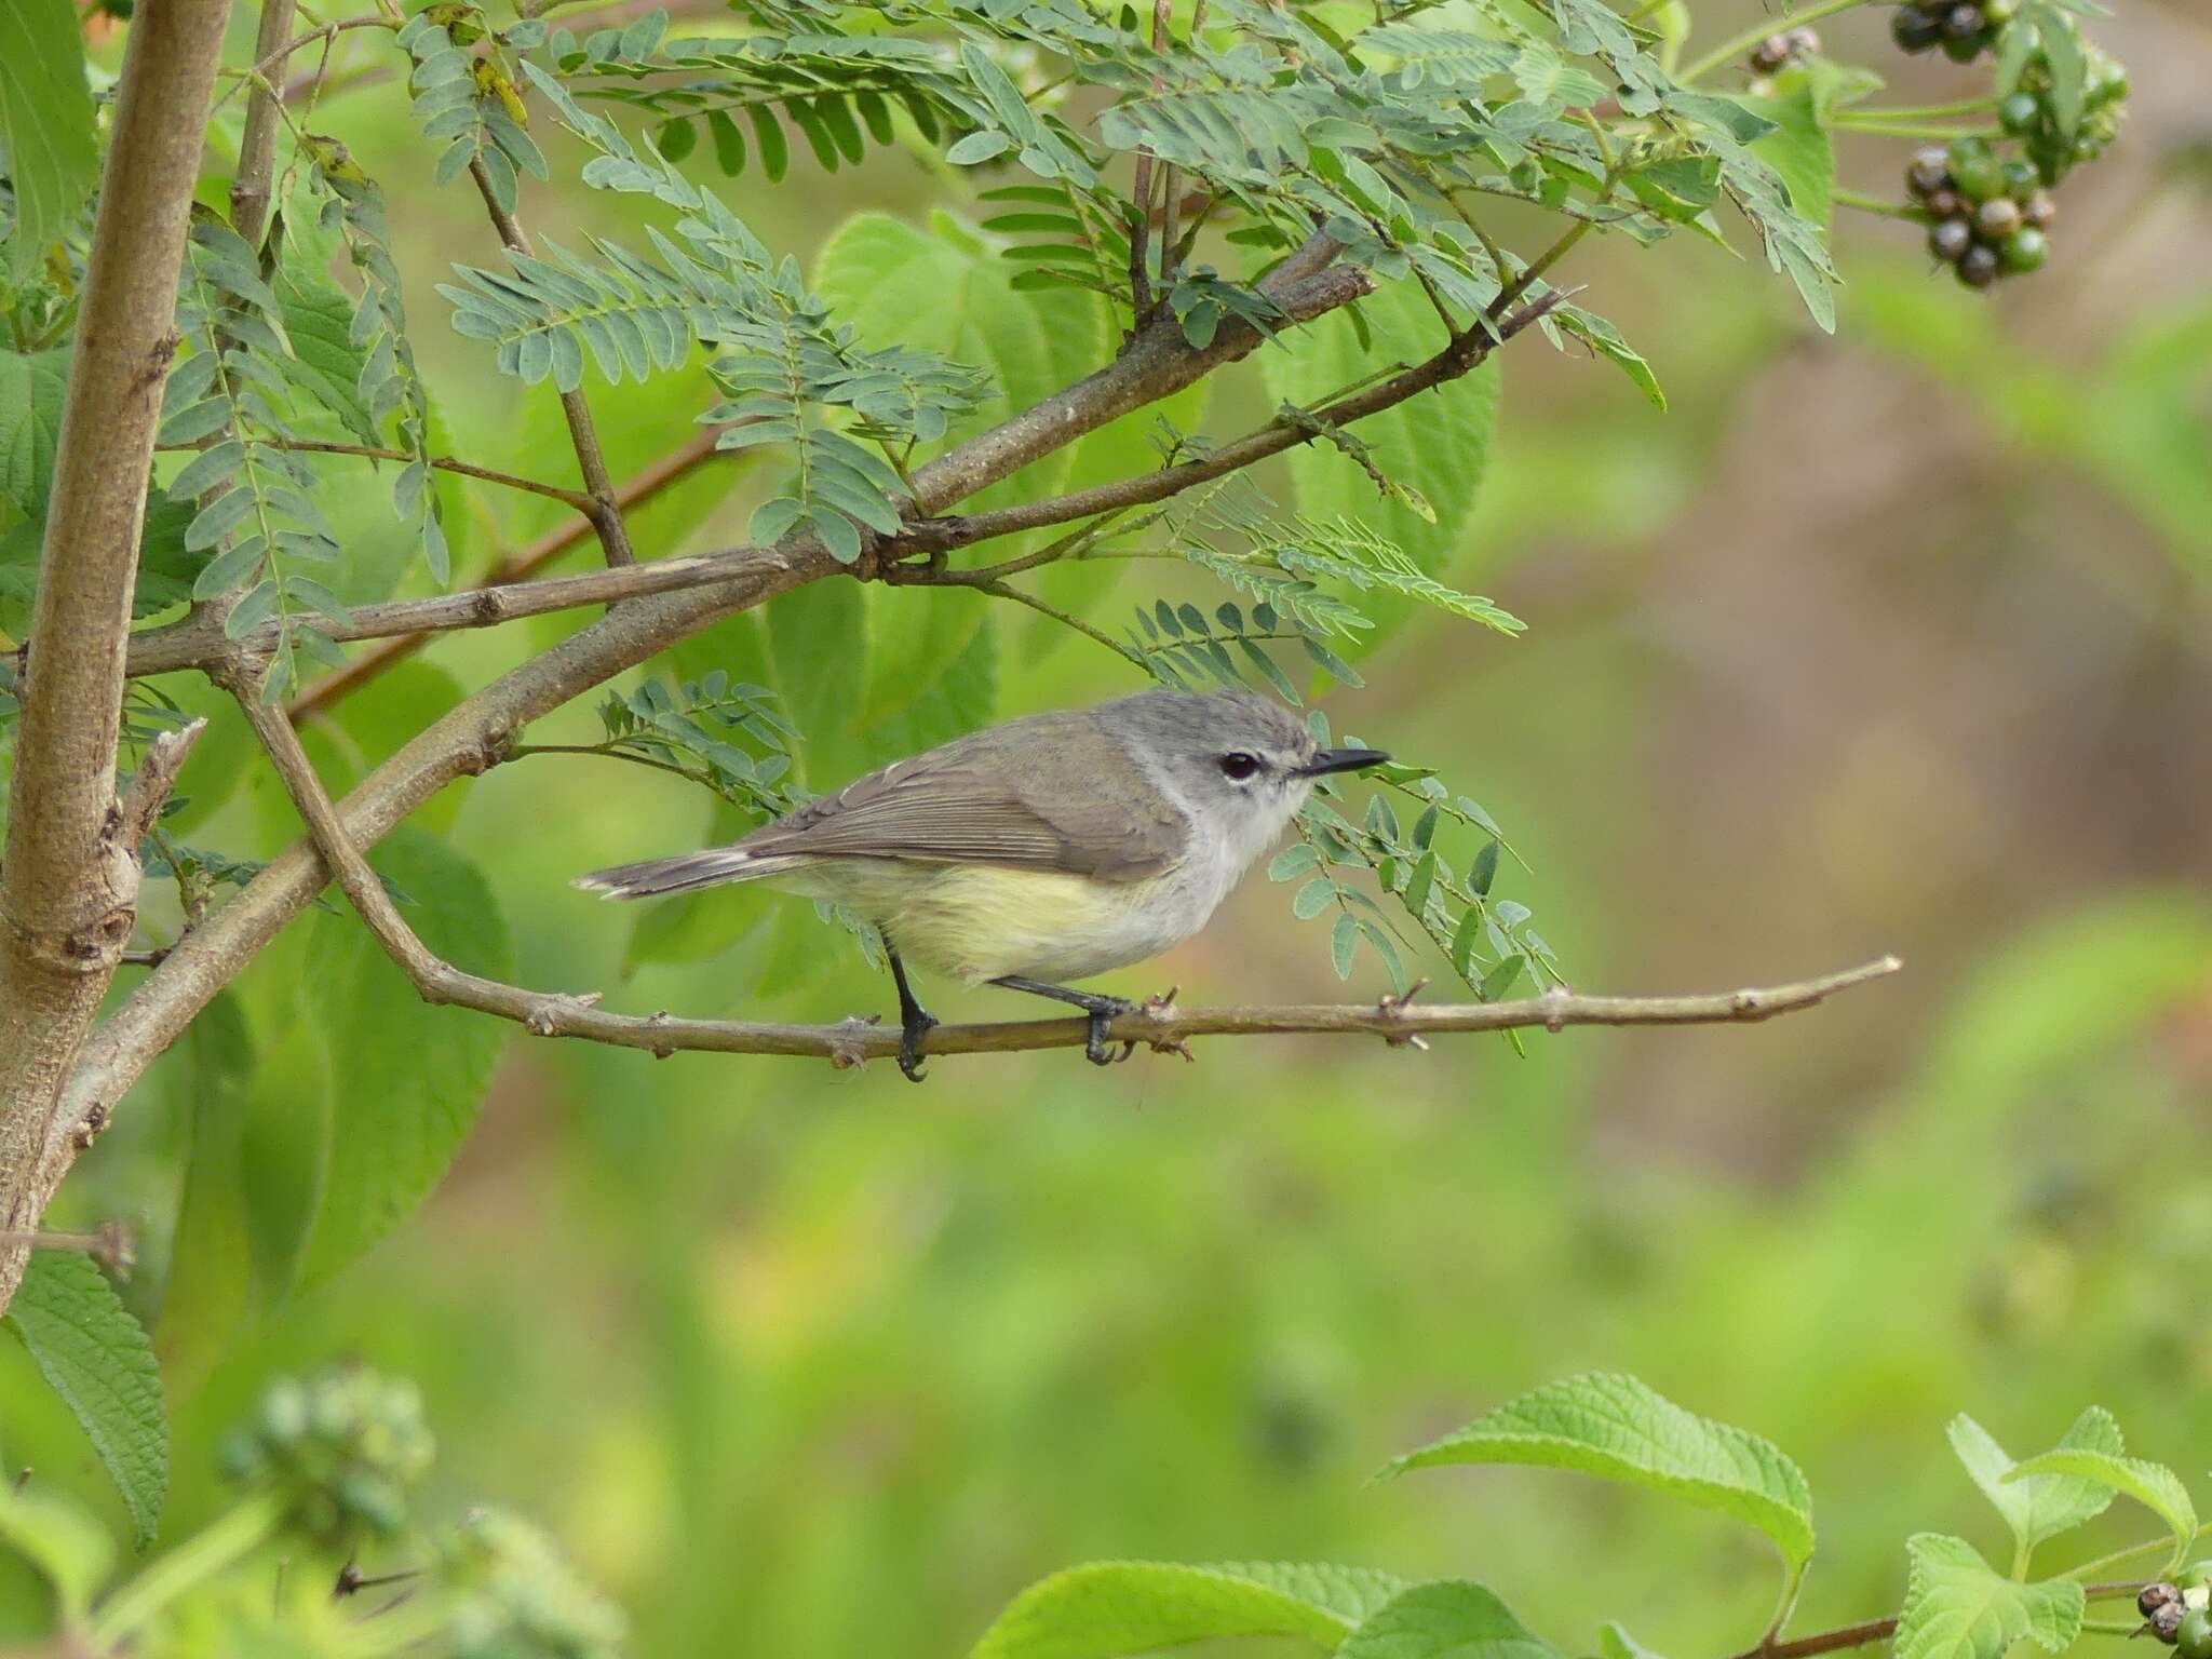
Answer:
[[285, 1524], [327, 1548], [407, 1524], [407, 1498], [429, 1475], [436, 1442], [411, 1383], [343, 1369], [279, 1378], [261, 1411], [223, 1447], [223, 1469], [274, 1491]]

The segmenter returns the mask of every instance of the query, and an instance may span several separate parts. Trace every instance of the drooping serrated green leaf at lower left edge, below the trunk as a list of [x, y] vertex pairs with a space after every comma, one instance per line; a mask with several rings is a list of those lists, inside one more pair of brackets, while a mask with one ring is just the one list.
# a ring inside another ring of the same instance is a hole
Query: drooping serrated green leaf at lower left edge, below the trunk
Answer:
[[168, 1495], [168, 1413], [146, 1327], [77, 1250], [31, 1254], [7, 1323], [84, 1427], [146, 1548]]

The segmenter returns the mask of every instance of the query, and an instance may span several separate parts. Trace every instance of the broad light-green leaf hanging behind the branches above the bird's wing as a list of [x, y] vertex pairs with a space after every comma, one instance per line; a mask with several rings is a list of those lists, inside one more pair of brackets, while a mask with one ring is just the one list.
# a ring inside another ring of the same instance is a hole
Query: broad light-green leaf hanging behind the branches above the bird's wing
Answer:
[[[960, 226], [938, 221], [933, 230], [922, 230], [887, 212], [847, 219], [814, 265], [816, 292], [841, 323], [852, 323], [863, 347], [940, 352], [991, 376], [995, 396], [953, 420], [947, 442], [971, 438], [1009, 414], [1042, 403], [1104, 361], [1104, 327], [1093, 321], [1088, 338], [1055, 338], [1035, 296], [1015, 292], [1011, 281], [1006, 261]], [[1062, 361], [1071, 345], [1075, 356]], [[936, 445], [925, 447], [918, 458], [933, 449]], [[1062, 451], [964, 507], [987, 509], [1053, 493], [1066, 480], [1068, 460]], [[872, 639], [858, 699], [860, 726], [902, 710], [960, 655], [982, 626], [989, 604], [958, 599], [975, 595], [867, 588]], [[847, 688], [847, 706], [849, 701]]]

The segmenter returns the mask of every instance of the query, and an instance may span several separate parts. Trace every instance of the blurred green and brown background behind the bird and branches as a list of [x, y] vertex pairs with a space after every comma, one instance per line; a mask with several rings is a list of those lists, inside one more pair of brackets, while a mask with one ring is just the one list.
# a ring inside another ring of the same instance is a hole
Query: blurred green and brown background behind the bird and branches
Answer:
[[[1701, 33], [1750, 15], [1714, 7]], [[2132, 124], [2066, 192], [2051, 268], [1995, 301], [1931, 279], [1916, 232], [1874, 219], [1838, 230], [1836, 338], [1756, 263], [1586, 246], [1571, 279], [1644, 345], [1672, 414], [1515, 343], [1449, 575], [1531, 633], [1420, 619], [1327, 703], [1498, 814], [1533, 867], [1504, 891], [1582, 989], [1725, 989], [1891, 949], [1902, 978], [1765, 1026], [1540, 1035], [1526, 1057], [1212, 1042], [1197, 1066], [1106, 1073], [942, 1060], [925, 1088], [887, 1064], [518, 1037], [460, 1164], [380, 1248], [237, 1334], [161, 1329], [170, 1535], [219, 1502], [212, 1440], [261, 1380], [332, 1356], [416, 1376], [440, 1498], [544, 1520], [644, 1655], [960, 1652], [1033, 1577], [1121, 1555], [1458, 1573], [1562, 1646], [1604, 1617], [1661, 1652], [1745, 1646], [1772, 1564], [1719, 1517], [1535, 1471], [1365, 1484], [1586, 1367], [1801, 1460], [1823, 1533], [1801, 1628], [1893, 1608], [1909, 1531], [1989, 1542], [1942, 1438], [1958, 1409], [2026, 1453], [2101, 1402], [2132, 1451], [2201, 1475], [2212, 29], [2194, 0], [2097, 29], [2135, 69]], [[1900, 64], [1878, 13], [1823, 31], [1898, 69], [1900, 93], [1955, 95], [1962, 71]], [[495, 380], [442, 327], [429, 283], [491, 241], [473, 197], [429, 188], [392, 93], [347, 93], [323, 124], [394, 192], [451, 445], [549, 471], [551, 394]], [[1851, 139], [1840, 177], [1893, 195], [1902, 153]], [[914, 217], [947, 188], [898, 157], [834, 179], [799, 159], [785, 188], [730, 197], [805, 259], [845, 215]], [[524, 197], [568, 239], [608, 215], [582, 188]], [[1265, 409], [1239, 374], [1221, 431]], [[617, 473], [697, 407], [666, 383], [593, 396]], [[726, 544], [754, 498], [710, 473], [637, 533], [655, 555]], [[531, 507], [469, 495], [465, 557], [555, 522]], [[562, 626], [438, 641], [420, 659], [438, 672], [385, 684], [387, 717], [434, 712]], [[750, 646], [723, 630], [719, 648]], [[1071, 639], [1006, 653], [998, 708], [1130, 688]], [[580, 706], [540, 741], [591, 728]], [[319, 741], [334, 768], [363, 759]], [[891, 1006], [796, 900], [714, 898], [686, 947], [703, 960], [628, 960], [637, 911], [566, 883], [703, 838], [684, 785], [531, 759], [429, 812], [489, 874], [529, 984], [697, 1015]], [[192, 838], [268, 854], [290, 834], [248, 776]], [[1325, 938], [1254, 876], [1203, 938], [1110, 989], [1332, 998]], [[281, 949], [241, 998], [299, 971]], [[276, 1035], [257, 1099], [281, 1117]], [[148, 1323], [192, 1108], [166, 1060], [60, 1212], [142, 1225]], [[0, 1347], [0, 1391], [31, 1400], [27, 1380]], [[60, 1407], [7, 1429], [11, 1462], [113, 1502]], [[2148, 1531], [2112, 1513], [2081, 1551]]]

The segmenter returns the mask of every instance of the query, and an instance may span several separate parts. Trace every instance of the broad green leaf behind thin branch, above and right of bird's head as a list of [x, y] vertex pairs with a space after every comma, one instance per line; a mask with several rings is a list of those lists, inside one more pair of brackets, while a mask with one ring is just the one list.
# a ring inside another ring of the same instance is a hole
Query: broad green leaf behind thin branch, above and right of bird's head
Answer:
[[[1444, 325], [1416, 283], [1385, 288], [1363, 301], [1363, 312], [1371, 345], [1360, 345], [1354, 321], [1338, 312], [1290, 330], [1281, 347], [1263, 349], [1267, 396], [1314, 409], [1378, 367], [1420, 363], [1444, 345]], [[1290, 451], [1298, 511], [1316, 522], [1349, 518], [1367, 524], [1413, 555], [1429, 575], [1444, 571], [1482, 487], [1498, 420], [1498, 363], [1486, 363], [1352, 429], [1369, 445], [1371, 460], [1387, 478], [1429, 502], [1433, 520], [1400, 500], [1385, 500], [1349, 456], [1323, 442]], [[1416, 611], [1409, 599], [1378, 593], [1363, 595], [1360, 608], [1380, 624], [1360, 637], [1363, 650]]]

